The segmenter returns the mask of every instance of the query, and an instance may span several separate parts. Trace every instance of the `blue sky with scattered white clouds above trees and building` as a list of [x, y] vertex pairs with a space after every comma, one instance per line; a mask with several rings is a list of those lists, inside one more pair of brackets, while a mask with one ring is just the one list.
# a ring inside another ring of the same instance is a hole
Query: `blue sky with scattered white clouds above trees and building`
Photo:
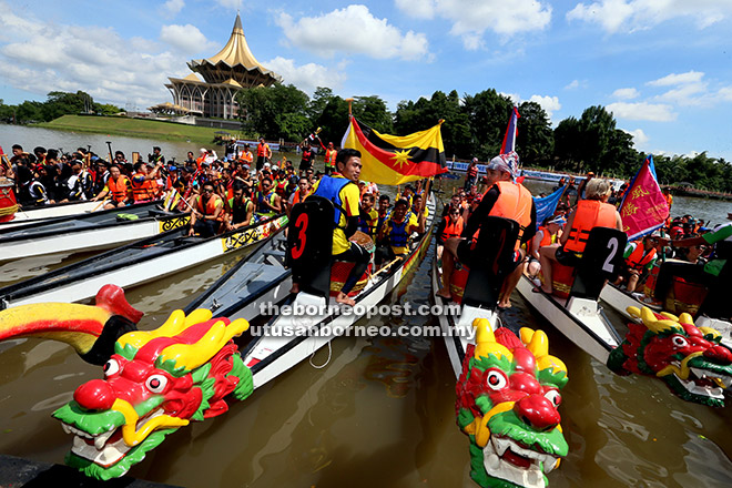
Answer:
[[394, 111], [495, 89], [552, 126], [602, 105], [639, 151], [732, 161], [732, 0], [0, 0], [0, 99], [172, 101], [167, 77], [218, 52], [237, 11], [260, 63], [309, 95]]

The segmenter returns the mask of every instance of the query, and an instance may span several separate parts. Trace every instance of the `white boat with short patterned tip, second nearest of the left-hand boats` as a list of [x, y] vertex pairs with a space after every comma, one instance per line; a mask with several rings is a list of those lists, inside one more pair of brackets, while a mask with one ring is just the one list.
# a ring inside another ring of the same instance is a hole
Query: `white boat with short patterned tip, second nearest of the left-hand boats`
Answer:
[[0, 228], [0, 261], [102, 250], [187, 225], [187, 213], [160, 211], [157, 202]]

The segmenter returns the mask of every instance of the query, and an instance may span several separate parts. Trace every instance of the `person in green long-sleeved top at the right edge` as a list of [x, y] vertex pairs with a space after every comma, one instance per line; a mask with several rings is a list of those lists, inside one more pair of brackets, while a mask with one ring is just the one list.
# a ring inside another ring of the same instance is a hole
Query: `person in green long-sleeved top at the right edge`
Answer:
[[[728, 215], [732, 221], [732, 214]], [[691, 263], [665, 262], [661, 266], [655, 286], [655, 299], [661, 302], [672, 286], [674, 276], [687, 282], [703, 284], [708, 294], [699, 307], [699, 315], [705, 314], [713, 318], [729, 321], [732, 318], [730, 306], [730, 283], [732, 282], [732, 222], [718, 225], [712, 232], [697, 237], [679, 241], [658, 238], [659, 245], [673, 245], [675, 247], [691, 247], [714, 245], [714, 258], [704, 265]]]

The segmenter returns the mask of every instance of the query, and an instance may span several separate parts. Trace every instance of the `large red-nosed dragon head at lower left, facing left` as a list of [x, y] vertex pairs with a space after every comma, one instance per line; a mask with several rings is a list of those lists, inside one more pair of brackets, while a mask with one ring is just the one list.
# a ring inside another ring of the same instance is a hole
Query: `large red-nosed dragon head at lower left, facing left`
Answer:
[[169, 434], [226, 411], [226, 395], [246, 398], [252, 374], [232, 338], [247, 328], [206, 309], [175, 311], [155, 331], [122, 335], [104, 378], [53, 413], [74, 435], [67, 464], [93, 478], [120, 477]]

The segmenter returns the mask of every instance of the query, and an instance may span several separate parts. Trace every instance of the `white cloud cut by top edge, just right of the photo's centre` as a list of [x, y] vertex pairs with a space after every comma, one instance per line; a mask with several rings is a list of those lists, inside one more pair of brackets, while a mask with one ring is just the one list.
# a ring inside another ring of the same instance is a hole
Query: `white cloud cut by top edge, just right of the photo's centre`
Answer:
[[417, 19], [439, 17], [453, 22], [450, 33], [462, 38], [466, 49], [482, 47], [486, 31], [509, 38], [543, 30], [551, 21], [551, 6], [539, 0], [396, 0], [407, 16]]

